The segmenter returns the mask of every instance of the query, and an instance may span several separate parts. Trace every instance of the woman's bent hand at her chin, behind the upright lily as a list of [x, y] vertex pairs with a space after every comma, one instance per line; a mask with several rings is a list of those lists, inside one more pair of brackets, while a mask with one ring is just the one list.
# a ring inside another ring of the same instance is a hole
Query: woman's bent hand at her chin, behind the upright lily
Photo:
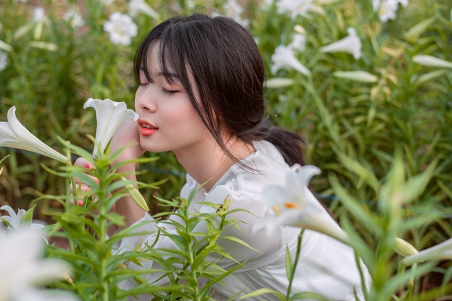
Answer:
[[145, 152], [145, 149], [140, 145], [140, 132], [138, 129], [138, 122], [133, 120], [126, 120], [123, 124], [116, 130], [115, 135], [111, 139], [111, 152], [116, 152], [121, 147], [134, 143], [126, 147], [122, 152], [118, 161], [125, 161], [138, 158], [141, 154]]

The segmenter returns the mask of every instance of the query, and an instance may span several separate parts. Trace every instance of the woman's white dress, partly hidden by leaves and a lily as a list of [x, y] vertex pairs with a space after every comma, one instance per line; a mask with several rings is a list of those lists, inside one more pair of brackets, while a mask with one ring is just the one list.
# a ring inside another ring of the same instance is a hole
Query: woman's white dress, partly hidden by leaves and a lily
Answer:
[[[300, 228], [282, 227], [280, 231], [273, 234], [266, 234], [261, 231], [252, 234], [252, 226], [264, 215], [271, 214], [273, 211], [261, 200], [261, 190], [268, 185], [284, 185], [286, 173], [289, 171], [289, 165], [277, 148], [268, 141], [261, 140], [253, 143], [256, 152], [243, 159], [242, 163], [259, 170], [259, 172], [250, 172], [241, 168], [239, 164], [232, 165], [223, 177], [207, 193], [203, 188], [197, 191], [191, 202], [191, 211], [212, 212], [211, 207], [201, 205], [200, 202], [215, 202], [223, 204], [225, 197], [229, 195], [232, 201], [229, 210], [242, 208], [253, 214], [239, 212], [233, 213], [232, 217], [243, 220], [245, 223], [239, 223], [241, 231], [232, 227], [227, 231], [227, 235], [235, 236], [245, 241], [259, 252], [255, 252], [248, 247], [234, 243], [226, 239], [218, 239], [218, 243], [225, 247], [225, 252], [229, 252], [232, 258], [237, 261], [246, 261], [245, 266], [234, 272], [234, 277], [226, 277], [223, 281], [227, 285], [216, 284], [214, 289], [230, 297], [235, 293], [242, 291], [243, 294], [251, 293], [259, 288], [270, 288], [286, 294], [288, 280], [286, 277], [285, 256], [286, 245], [289, 247], [292, 258], [295, 258], [298, 243], [298, 234]], [[199, 186], [197, 182], [187, 174], [186, 184], [181, 190], [181, 197], [188, 199], [188, 195]], [[326, 212], [326, 211], [325, 211]], [[154, 222], [149, 214], [139, 220], [143, 226], [135, 231], [156, 231]], [[177, 233], [175, 229], [167, 231]], [[197, 227], [203, 227], [198, 225]], [[339, 227], [339, 226], [338, 226]], [[202, 229], [195, 229], [202, 231]], [[205, 231], [205, 227], [204, 227]], [[132, 236], [122, 239], [118, 250], [131, 250], [139, 243], [147, 241], [148, 245], [154, 243], [154, 235], [147, 237]], [[168, 237], [160, 237], [155, 248], [177, 248]], [[209, 260], [209, 258], [207, 258]], [[145, 261], [143, 267], [134, 266], [130, 268], [160, 268], [152, 261]], [[219, 266], [232, 268], [236, 263], [229, 259], [221, 259]], [[366, 287], [369, 289], [369, 272], [362, 263], [362, 269], [366, 278]], [[153, 273], [146, 275], [150, 283], [159, 278], [161, 274]], [[168, 279], [161, 279], [154, 282], [156, 285], [168, 284]], [[127, 280], [122, 283], [122, 288], [133, 287], [134, 281]], [[355, 254], [353, 250], [344, 243], [334, 238], [319, 234], [315, 231], [306, 230], [302, 237], [302, 247], [300, 259], [296, 268], [296, 275], [292, 284], [292, 293], [310, 291], [320, 293], [330, 300], [355, 300], [353, 288], [356, 288], [360, 300], [362, 296], [360, 274], [357, 270]], [[140, 300], [150, 300], [152, 295], [141, 295]], [[256, 298], [247, 298], [246, 300], [280, 300], [275, 295], [262, 295]]]

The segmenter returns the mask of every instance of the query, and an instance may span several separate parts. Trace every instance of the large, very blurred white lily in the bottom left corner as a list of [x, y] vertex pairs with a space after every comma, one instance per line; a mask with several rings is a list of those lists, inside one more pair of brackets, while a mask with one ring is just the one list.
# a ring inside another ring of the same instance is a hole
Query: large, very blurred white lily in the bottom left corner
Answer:
[[43, 246], [40, 231], [20, 230], [3, 235], [0, 240], [0, 300], [29, 300], [25, 295], [45, 292], [33, 286], [60, 279], [63, 272], [69, 270], [63, 261], [41, 259]]

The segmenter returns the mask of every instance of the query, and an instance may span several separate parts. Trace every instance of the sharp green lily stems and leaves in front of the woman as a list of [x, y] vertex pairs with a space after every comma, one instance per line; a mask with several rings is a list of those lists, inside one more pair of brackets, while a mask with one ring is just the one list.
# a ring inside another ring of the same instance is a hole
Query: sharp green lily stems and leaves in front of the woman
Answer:
[[[60, 168], [61, 171], [52, 171], [52, 174], [65, 178], [67, 193], [61, 197], [54, 195], [41, 195], [40, 199], [57, 200], [64, 207], [64, 211], [47, 211], [52, 215], [56, 223], [47, 226], [47, 236], [59, 236], [66, 238], [70, 248], [65, 250], [56, 245], [49, 245], [46, 250], [47, 257], [63, 259], [72, 265], [72, 273], [63, 282], [54, 286], [74, 291], [82, 300], [126, 300], [128, 296], [150, 293], [158, 300], [209, 300], [209, 290], [213, 284], [223, 283], [222, 279], [235, 270], [241, 268], [243, 263], [236, 262], [229, 254], [223, 251], [223, 247], [217, 241], [223, 231], [229, 227], [236, 227], [238, 220], [227, 215], [237, 210], [228, 211], [230, 200], [226, 198], [223, 204], [204, 202], [202, 204], [213, 209], [213, 213], [191, 213], [188, 206], [193, 199], [195, 191], [188, 200], [180, 199], [167, 201], [159, 198], [163, 206], [175, 208], [174, 211], [159, 213], [156, 218], [168, 217], [159, 223], [158, 233], [152, 245], [137, 245], [134, 250], [117, 250], [115, 244], [127, 236], [151, 236], [153, 233], [134, 231], [142, 225], [134, 225], [122, 229], [124, 218], [113, 211], [115, 202], [125, 193], [129, 194], [131, 188], [138, 187], [157, 188], [155, 184], [134, 183], [116, 174], [119, 163], [111, 166], [111, 162], [118, 158], [122, 149], [111, 155], [101, 154], [97, 160], [93, 160], [90, 153], [80, 147], [61, 140], [63, 145], [74, 154], [86, 158], [94, 168], [87, 174], [86, 170], [78, 166], [68, 165]], [[137, 161], [149, 161], [138, 159]], [[92, 177], [99, 179], [99, 183]], [[80, 192], [80, 186], [74, 184], [78, 178], [92, 188], [84, 193]], [[69, 181], [72, 181], [72, 191], [69, 191]], [[200, 186], [201, 187], [201, 186]], [[83, 204], [77, 206], [78, 200]], [[26, 215], [31, 218], [33, 210]], [[24, 215], [24, 219], [26, 219]], [[180, 221], [177, 221], [180, 220]], [[22, 220], [24, 221], [24, 220]], [[26, 221], [24, 221], [26, 222]], [[155, 221], [154, 221], [155, 222]], [[206, 231], [200, 231], [201, 223], [205, 224]], [[166, 227], [177, 231], [170, 233]], [[119, 227], [119, 228], [118, 228]], [[114, 229], [117, 229], [114, 231]], [[113, 229], [113, 230], [112, 230]], [[195, 232], [195, 230], [197, 231]], [[60, 231], [63, 230], [63, 231]], [[112, 234], [111, 232], [114, 233]], [[110, 234], [108, 236], [107, 234]], [[156, 247], [159, 238], [167, 236], [176, 245], [177, 249], [163, 249]], [[247, 245], [237, 238], [222, 236], [223, 239], [231, 239], [237, 243]], [[216, 263], [220, 259], [227, 258], [236, 264], [229, 270], [220, 268]], [[145, 261], [153, 261], [161, 268], [128, 268], [129, 263], [142, 266]], [[158, 279], [168, 278], [168, 285], [158, 286], [149, 283], [152, 273]], [[160, 276], [163, 274], [163, 276]], [[207, 284], [198, 288], [198, 279], [206, 278]], [[128, 291], [120, 289], [118, 284], [126, 279], [136, 282], [134, 288]]]

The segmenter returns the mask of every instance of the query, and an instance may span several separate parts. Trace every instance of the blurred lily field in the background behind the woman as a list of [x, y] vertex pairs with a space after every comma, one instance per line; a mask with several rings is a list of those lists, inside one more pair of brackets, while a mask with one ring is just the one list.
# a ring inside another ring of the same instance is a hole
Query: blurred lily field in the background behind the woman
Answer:
[[[418, 250], [452, 234], [452, 1], [450, 0], [1, 0], [0, 120], [16, 115], [35, 136], [65, 152], [57, 136], [92, 152], [90, 97], [125, 101], [133, 108], [133, 60], [140, 40], [156, 24], [193, 12], [225, 15], [247, 27], [266, 65], [268, 115], [296, 131], [306, 163], [323, 171], [312, 190], [337, 217], [343, 207], [330, 176], [376, 209], [396, 154], [410, 178], [437, 160], [425, 192], [405, 206], [405, 218], [424, 218], [405, 232]], [[58, 202], [40, 193], [65, 193], [65, 180], [42, 168], [60, 163], [0, 147], [0, 206], [27, 209], [51, 223]], [[139, 180], [168, 179], [142, 190], [171, 199], [185, 181], [172, 153], [150, 154]], [[74, 161], [75, 158], [72, 158]], [[352, 220], [353, 222], [353, 220]], [[356, 226], [358, 233], [365, 233]], [[372, 244], [372, 238], [366, 238]], [[443, 274], [451, 263], [439, 263]], [[425, 277], [421, 289], [442, 277]], [[451, 271], [452, 272], [452, 271]]]

